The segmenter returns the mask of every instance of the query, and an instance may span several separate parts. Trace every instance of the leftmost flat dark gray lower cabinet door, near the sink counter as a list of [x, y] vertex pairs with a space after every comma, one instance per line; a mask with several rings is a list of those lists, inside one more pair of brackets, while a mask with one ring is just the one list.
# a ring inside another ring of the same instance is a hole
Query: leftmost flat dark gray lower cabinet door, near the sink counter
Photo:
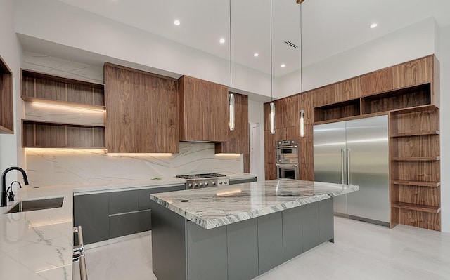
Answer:
[[73, 225], [82, 226], [84, 244], [110, 238], [109, 194], [74, 196], [73, 208]]

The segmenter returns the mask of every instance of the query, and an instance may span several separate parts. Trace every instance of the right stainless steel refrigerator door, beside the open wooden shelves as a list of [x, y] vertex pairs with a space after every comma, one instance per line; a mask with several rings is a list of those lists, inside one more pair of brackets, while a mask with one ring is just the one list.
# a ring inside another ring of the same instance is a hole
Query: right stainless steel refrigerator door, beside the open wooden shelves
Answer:
[[389, 134], [387, 116], [346, 122], [349, 184], [359, 192], [347, 194], [347, 213], [389, 222]]

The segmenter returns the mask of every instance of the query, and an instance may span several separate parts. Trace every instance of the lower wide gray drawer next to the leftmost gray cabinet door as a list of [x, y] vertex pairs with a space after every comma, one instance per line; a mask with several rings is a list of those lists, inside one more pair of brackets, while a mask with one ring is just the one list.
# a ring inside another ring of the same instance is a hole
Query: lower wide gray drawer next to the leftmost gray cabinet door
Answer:
[[110, 238], [139, 232], [139, 213], [110, 215]]

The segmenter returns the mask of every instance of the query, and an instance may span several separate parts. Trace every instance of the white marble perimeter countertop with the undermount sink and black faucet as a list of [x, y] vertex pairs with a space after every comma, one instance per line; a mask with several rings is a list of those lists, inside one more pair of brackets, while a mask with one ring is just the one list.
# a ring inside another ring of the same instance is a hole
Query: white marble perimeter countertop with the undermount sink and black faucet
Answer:
[[[248, 178], [246, 173], [226, 173], [231, 178]], [[0, 208], [0, 279], [72, 279], [73, 196], [98, 192], [169, 187], [184, 184], [179, 178], [111, 180], [84, 185], [23, 187], [15, 202]], [[64, 197], [61, 208], [5, 214], [18, 200]]]

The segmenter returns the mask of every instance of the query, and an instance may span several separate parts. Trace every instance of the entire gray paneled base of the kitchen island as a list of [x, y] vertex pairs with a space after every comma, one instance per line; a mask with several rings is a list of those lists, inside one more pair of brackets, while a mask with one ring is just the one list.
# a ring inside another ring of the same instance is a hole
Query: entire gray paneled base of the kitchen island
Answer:
[[252, 279], [334, 241], [333, 198], [205, 229], [151, 201], [159, 280]]

